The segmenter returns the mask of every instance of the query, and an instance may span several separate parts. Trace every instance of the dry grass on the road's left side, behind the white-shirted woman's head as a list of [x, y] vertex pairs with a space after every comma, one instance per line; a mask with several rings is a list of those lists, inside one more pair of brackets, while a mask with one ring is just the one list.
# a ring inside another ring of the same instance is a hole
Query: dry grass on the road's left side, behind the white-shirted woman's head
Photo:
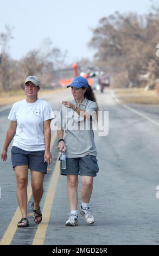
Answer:
[[[38, 96], [41, 97], [45, 94], [60, 93], [66, 88], [56, 88], [52, 90], [40, 90]], [[17, 101], [23, 100], [26, 98], [24, 90], [18, 90], [17, 92], [2, 92], [0, 93], [0, 106], [11, 105]]]

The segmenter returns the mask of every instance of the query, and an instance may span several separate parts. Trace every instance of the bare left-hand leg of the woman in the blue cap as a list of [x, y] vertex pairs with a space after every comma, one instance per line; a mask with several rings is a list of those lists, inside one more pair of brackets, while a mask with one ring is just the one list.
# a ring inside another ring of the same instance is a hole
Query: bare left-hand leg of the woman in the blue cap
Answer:
[[67, 194], [69, 201], [69, 209], [77, 210], [78, 205], [78, 175], [67, 175]]

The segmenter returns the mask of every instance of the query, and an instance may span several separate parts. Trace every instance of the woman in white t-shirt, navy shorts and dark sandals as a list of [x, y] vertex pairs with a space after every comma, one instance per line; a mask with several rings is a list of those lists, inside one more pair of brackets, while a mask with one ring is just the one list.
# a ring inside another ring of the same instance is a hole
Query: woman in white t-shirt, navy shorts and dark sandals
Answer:
[[7, 150], [11, 148], [12, 167], [17, 181], [17, 201], [22, 219], [17, 227], [29, 227], [27, 218], [28, 169], [31, 170], [31, 187], [34, 202], [34, 221], [41, 223], [40, 201], [43, 195], [43, 178], [47, 173], [47, 164], [52, 163], [50, 154], [50, 121], [54, 118], [49, 103], [37, 97], [40, 81], [29, 76], [25, 81], [26, 99], [16, 102], [9, 113], [11, 120], [2, 151], [2, 160], [7, 161]]

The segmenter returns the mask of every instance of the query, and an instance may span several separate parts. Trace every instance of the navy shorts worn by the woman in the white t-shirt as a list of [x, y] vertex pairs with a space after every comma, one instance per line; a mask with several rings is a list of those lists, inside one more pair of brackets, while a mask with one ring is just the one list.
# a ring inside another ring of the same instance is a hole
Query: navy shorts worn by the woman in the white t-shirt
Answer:
[[24, 151], [17, 147], [11, 148], [12, 167], [28, 166], [30, 170], [47, 173], [47, 162], [43, 162], [44, 150]]

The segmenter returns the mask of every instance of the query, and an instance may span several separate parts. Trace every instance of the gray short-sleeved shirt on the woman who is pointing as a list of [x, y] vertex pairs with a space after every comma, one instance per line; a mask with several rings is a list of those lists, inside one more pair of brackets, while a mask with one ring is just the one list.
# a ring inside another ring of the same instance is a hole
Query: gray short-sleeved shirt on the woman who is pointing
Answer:
[[[75, 100], [70, 102], [86, 110], [91, 115], [97, 109], [96, 102], [86, 98], [81, 104], [77, 104]], [[61, 125], [59, 123], [57, 125], [61, 126], [62, 130], [65, 130], [66, 157], [97, 156], [92, 129], [92, 117], [84, 120], [72, 108], [63, 106], [61, 108]]]

